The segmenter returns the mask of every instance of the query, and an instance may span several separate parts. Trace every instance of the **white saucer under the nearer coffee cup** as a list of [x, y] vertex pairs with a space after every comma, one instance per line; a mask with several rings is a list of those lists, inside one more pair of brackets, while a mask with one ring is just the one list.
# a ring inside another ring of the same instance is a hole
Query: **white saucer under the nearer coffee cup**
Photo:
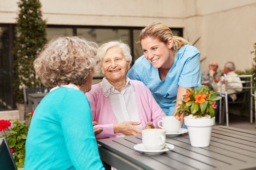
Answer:
[[[158, 154], [162, 154], [166, 151], [171, 151], [173, 148], [174, 148], [174, 145], [172, 144], [168, 144], [168, 143], [165, 143], [166, 147], [164, 147], [163, 149], [161, 150], [147, 150], [144, 145], [141, 143], [141, 144], [137, 144], [137, 145], [134, 145], [133, 148], [137, 151], [141, 151], [145, 154], [148, 154], [148, 155], [158, 155]], [[169, 149], [167, 149], [167, 147]]]

